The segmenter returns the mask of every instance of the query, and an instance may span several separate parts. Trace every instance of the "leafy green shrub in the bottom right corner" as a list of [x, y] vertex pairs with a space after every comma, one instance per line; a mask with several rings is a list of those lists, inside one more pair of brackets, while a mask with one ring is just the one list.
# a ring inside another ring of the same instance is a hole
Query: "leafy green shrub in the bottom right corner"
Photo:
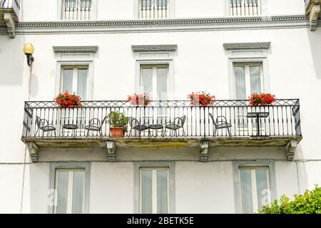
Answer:
[[294, 195], [292, 201], [282, 195], [279, 200], [263, 206], [259, 214], [321, 214], [321, 187], [305, 191], [303, 195]]

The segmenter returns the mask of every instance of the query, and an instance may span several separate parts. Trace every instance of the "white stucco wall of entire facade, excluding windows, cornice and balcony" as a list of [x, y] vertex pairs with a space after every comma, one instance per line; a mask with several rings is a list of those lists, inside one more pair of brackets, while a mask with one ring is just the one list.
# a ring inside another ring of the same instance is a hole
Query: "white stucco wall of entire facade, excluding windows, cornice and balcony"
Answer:
[[[299, 0], [263, 0], [267, 15], [304, 14]], [[98, 1], [97, 17], [133, 19], [133, 1]], [[201, 7], [200, 7], [201, 6]], [[121, 11], [115, 9], [121, 8]], [[46, 10], [39, 10], [46, 9]], [[48, 9], [48, 10], [47, 10]], [[55, 0], [24, 1], [22, 21], [55, 21]], [[224, 1], [175, 0], [175, 16], [226, 16]], [[191, 91], [207, 90], [218, 99], [230, 93], [228, 53], [223, 43], [270, 41], [267, 51], [268, 92], [277, 98], [300, 98], [303, 140], [295, 161], [285, 160], [285, 148], [233, 147], [210, 149], [210, 162], [198, 162], [199, 150], [120, 149], [118, 160], [107, 162], [103, 149], [45, 149], [39, 163], [31, 164], [26, 153], [22, 212], [48, 212], [49, 162], [92, 161], [90, 206], [93, 213], [133, 212], [133, 160], [175, 162], [175, 212], [233, 213], [233, 160], [275, 160], [276, 195], [291, 196], [321, 185], [321, 154], [318, 148], [321, 109], [321, 29], [248, 29], [137, 33], [17, 34], [0, 36], [0, 213], [19, 213], [25, 145], [21, 142], [24, 100], [28, 99], [30, 68], [22, 48], [34, 44], [31, 100], [53, 100], [56, 95], [57, 58], [53, 46], [98, 46], [93, 64], [93, 100], [120, 100], [136, 90], [136, 59], [132, 45], [177, 44], [174, 53], [175, 99]], [[129, 162], [128, 162], [129, 161]]]

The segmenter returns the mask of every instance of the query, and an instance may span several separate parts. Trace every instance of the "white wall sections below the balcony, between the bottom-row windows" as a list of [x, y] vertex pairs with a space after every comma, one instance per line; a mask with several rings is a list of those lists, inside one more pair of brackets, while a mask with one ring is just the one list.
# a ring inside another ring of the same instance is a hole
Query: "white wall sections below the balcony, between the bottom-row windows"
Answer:
[[[16, 173], [1, 178], [1, 213], [19, 213], [22, 166], [0, 168]], [[235, 213], [232, 162], [175, 162], [174, 170], [176, 213]], [[277, 197], [299, 193], [295, 162], [275, 162], [275, 172]], [[26, 166], [24, 213], [48, 212], [49, 180], [49, 163]], [[90, 186], [90, 213], [134, 212], [133, 162], [91, 162]]]

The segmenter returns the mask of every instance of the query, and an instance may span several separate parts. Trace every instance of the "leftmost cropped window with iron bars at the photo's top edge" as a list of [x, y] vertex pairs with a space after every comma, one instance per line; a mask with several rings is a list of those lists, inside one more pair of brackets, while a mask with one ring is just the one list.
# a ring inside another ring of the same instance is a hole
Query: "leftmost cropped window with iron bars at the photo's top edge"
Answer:
[[90, 20], [91, 0], [63, 0], [61, 19], [66, 21]]

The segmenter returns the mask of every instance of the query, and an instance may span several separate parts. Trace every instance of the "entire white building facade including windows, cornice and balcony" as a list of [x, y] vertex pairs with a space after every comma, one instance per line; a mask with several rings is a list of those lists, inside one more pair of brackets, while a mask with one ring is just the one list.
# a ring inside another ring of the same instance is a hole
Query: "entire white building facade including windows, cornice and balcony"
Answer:
[[[0, 212], [253, 213], [320, 185], [320, 5], [0, 1]], [[58, 108], [66, 90], [81, 108]]]

